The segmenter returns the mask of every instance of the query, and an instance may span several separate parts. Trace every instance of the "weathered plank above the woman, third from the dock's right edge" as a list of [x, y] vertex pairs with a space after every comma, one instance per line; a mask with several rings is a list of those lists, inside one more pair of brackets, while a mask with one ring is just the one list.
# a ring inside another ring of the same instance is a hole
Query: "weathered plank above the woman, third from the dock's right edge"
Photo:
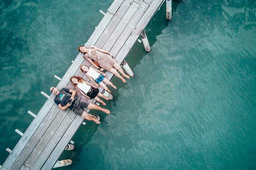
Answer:
[[140, 5], [138, 3], [132, 2], [131, 6], [129, 7], [127, 12], [124, 14], [124, 17], [122, 17], [121, 21], [118, 23], [115, 30], [113, 31], [113, 33], [110, 35], [107, 42], [103, 46], [104, 50], [110, 51], [111, 47], [114, 45], [118, 37], [121, 35], [124, 28], [129, 23], [132, 16], [134, 15], [134, 13], [139, 9], [139, 6]]

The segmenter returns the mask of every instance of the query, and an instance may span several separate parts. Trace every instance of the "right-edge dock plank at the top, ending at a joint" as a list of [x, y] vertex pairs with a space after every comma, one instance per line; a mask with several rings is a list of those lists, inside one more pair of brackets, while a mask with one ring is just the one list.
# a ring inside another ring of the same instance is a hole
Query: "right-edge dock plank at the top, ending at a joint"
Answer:
[[152, 4], [148, 7], [147, 11], [144, 13], [144, 15], [141, 17], [140, 21], [136, 25], [136, 28], [134, 29], [134, 33], [137, 35], [140, 35], [142, 30], [147, 26], [151, 18], [154, 16], [155, 12], [159, 8], [159, 6], [162, 4], [164, 0], [154, 0]]

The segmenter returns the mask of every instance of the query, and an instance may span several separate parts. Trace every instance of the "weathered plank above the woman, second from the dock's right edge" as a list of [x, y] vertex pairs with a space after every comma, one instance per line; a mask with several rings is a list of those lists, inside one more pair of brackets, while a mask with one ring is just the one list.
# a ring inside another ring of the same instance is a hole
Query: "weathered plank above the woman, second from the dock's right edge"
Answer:
[[132, 17], [128, 25], [125, 27], [124, 31], [121, 33], [120, 37], [117, 39], [112, 49], [110, 50], [110, 52], [114, 56], [118, 54], [118, 52], [124, 45], [123, 42], [125, 42], [127, 38], [130, 36], [131, 32], [134, 30], [135, 25], [139, 22], [140, 18], [143, 16], [148, 6], [149, 5], [145, 2], [141, 3], [141, 7], [135, 12], [134, 16]]

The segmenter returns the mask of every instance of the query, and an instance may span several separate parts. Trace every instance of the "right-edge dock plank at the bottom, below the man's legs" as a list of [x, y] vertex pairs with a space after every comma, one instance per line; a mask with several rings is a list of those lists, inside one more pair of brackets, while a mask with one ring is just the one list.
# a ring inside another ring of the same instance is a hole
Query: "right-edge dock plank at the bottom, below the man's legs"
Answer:
[[66, 145], [67, 145], [66, 139], [71, 139], [73, 137], [76, 130], [81, 125], [81, 122], [83, 122], [83, 118], [77, 115], [73, 120], [73, 122], [68, 127], [63, 137], [61, 138], [58, 145], [54, 148], [53, 152], [51, 153], [47, 161], [44, 163], [42, 169], [48, 170], [54, 166], [54, 164], [56, 163], [56, 158], [59, 158], [62, 154], [62, 152], [59, 152], [59, 151], [64, 150], [66, 148]]

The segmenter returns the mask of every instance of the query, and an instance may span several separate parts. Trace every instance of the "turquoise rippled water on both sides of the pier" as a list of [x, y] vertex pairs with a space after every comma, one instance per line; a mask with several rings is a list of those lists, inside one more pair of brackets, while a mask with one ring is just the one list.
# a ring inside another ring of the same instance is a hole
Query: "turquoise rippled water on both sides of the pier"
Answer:
[[[112, 3], [102, 2], [1, 2], [0, 164]], [[152, 51], [135, 43], [135, 77], [113, 79], [112, 114], [92, 112], [103, 122], [79, 128], [61, 156], [74, 164], [59, 169], [255, 169], [255, 7], [184, 0], [167, 22], [163, 5], [146, 28]]]

